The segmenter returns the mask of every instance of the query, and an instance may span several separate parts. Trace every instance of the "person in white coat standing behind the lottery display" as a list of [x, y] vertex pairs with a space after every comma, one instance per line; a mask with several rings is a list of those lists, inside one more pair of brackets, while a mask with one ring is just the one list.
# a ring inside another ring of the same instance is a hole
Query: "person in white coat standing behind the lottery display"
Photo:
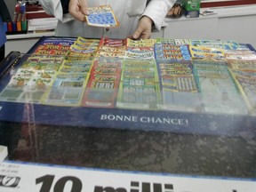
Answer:
[[[39, 0], [44, 11], [59, 20], [56, 36], [86, 38], [147, 39], [152, 26], [160, 30], [167, 12], [176, 0]], [[96, 28], [86, 25], [88, 7], [109, 4], [120, 23], [117, 28]]]

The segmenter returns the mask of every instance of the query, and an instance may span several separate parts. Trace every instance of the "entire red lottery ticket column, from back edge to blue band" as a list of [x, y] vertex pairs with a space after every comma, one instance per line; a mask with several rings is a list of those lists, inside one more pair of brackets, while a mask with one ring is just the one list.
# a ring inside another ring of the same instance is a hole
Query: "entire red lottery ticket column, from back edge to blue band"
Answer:
[[102, 37], [91, 68], [82, 106], [116, 107], [126, 39]]

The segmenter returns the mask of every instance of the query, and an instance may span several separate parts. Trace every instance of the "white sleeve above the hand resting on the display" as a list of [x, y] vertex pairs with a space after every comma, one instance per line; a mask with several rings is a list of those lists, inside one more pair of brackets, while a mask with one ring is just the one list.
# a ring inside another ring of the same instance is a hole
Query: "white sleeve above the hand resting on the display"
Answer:
[[151, 0], [142, 16], [148, 16], [153, 20], [155, 28], [160, 30], [164, 25], [164, 18], [167, 12], [175, 4], [176, 0]]

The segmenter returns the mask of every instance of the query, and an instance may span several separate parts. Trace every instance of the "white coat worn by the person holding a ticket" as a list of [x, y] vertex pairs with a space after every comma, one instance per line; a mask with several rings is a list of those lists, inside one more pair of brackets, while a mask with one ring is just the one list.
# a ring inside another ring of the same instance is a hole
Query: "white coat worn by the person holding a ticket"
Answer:
[[154, 21], [155, 28], [160, 30], [167, 12], [176, 0], [87, 0], [90, 7], [110, 4], [120, 25], [108, 31], [104, 28], [89, 27], [84, 22], [74, 20], [70, 14], [63, 14], [60, 0], [39, 0], [39, 2], [46, 13], [54, 15], [59, 20], [56, 36], [126, 38], [136, 30], [142, 15], [147, 15]]

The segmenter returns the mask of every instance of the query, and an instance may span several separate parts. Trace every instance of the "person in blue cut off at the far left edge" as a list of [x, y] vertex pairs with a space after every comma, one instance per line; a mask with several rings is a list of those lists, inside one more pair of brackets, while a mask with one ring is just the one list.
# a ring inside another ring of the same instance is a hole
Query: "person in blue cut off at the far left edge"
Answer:
[[0, 61], [4, 60], [4, 44], [6, 42], [6, 35], [4, 29], [4, 21], [10, 21], [11, 16], [7, 9], [4, 0], [0, 0]]

